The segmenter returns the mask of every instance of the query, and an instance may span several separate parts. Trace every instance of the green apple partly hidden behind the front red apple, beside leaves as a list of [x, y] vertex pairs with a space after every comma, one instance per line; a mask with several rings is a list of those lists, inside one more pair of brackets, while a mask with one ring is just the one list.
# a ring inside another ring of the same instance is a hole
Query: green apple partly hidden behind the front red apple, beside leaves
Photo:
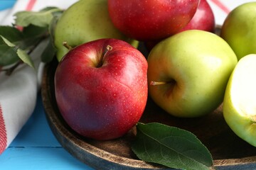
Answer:
[[80, 0], [67, 8], [55, 27], [55, 47], [60, 61], [68, 52], [63, 42], [75, 47], [100, 38], [115, 38], [137, 47], [139, 42], [127, 38], [114, 27], [107, 10], [107, 0]]

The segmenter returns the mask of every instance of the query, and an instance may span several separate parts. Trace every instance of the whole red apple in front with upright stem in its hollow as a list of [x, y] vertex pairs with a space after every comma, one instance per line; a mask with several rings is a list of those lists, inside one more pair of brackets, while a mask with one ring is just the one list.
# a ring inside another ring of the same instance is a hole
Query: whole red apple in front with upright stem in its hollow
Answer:
[[70, 50], [55, 72], [55, 98], [64, 120], [96, 140], [121, 137], [141, 118], [147, 100], [147, 62], [117, 39]]

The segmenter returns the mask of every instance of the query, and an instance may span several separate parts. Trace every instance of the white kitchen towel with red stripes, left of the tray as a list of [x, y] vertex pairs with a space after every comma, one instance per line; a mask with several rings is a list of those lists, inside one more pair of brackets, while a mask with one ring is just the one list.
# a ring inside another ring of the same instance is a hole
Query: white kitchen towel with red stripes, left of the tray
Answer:
[[[14, 13], [18, 11], [39, 11], [46, 6], [68, 8], [76, 0], [18, 0], [12, 8], [0, 11], [0, 25], [7, 26], [14, 23]], [[0, 0], [0, 6], [4, 1]], [[33, 52], [36, 58], [37, 49]], [[18, 132], [33, 113], [36, 106], [36, 96], [40, 89], [41, 72], [40, 59], [36, 62], [36, 69], [26, 65], [18, 67], [11, 76], [0, 72], [0, 154], [14, 140]]]

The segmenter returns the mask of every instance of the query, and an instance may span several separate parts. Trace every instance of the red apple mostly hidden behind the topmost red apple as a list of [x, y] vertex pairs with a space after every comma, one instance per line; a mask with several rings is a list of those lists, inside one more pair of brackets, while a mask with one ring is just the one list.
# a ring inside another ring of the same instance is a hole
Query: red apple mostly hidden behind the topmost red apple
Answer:
[[196, 13], [191, 21], [189, 21], [189, 23], [178, 32], [183, 30], [206, 30], [211, 33], [215, 32], [215, 16], [213, 9], [208, 4], [208, 1], [200, 1]]

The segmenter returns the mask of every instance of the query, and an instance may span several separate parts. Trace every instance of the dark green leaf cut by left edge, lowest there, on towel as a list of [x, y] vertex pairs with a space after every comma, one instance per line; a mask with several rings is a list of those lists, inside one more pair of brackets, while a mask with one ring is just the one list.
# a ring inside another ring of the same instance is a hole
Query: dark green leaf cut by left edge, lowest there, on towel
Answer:
[[17, 47], [0, 35], [0, 66], [14, 64], [19, 60]]

